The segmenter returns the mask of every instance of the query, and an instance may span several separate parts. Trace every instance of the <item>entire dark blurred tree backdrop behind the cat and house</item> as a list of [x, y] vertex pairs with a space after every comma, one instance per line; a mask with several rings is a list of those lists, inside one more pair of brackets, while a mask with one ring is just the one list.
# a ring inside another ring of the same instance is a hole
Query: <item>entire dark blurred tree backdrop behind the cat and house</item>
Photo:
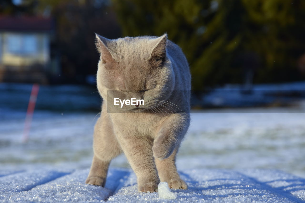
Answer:
[[188, 58], [194, 90], [301, 79], [302, 0], [3, 0], [0, 13], [55, 18], [54, 47], [68, 82], [95, 74], [94, 33], [113, 39], [120, 30], [123, 36], [167, 32]]

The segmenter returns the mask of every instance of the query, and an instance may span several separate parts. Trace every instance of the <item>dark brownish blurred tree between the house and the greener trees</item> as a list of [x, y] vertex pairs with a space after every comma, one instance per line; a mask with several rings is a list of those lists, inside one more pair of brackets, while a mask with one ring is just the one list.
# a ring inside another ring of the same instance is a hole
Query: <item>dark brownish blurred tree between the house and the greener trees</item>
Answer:
[[37, 12], [56, 18], [56, 35], [66, 82], [83, 83], [95, 75], [99, 54], [95, 33], [120, 37], [114, 12], [104, 0], [39, 0]]

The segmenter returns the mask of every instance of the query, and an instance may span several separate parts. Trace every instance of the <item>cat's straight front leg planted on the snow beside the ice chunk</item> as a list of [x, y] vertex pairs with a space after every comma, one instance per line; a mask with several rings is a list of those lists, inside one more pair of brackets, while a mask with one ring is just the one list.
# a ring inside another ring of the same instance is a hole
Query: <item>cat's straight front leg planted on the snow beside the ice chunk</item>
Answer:
[[133, 132], [118, 134], [118, 141], [138, 179], [139, 192], [156, 192], [160, 179], [152, 154], [152, 139]]

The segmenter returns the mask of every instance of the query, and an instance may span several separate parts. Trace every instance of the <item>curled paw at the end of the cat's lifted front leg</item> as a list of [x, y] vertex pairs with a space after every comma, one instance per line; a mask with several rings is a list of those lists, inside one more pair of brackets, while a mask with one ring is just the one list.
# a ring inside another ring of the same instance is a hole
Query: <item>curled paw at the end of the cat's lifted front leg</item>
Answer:
[[153, 143], [152, 152], [155, 158], [164, 159], [169, 157], [174, 149], [174, 144], [171, 144], [166, 136], [159, 136]]

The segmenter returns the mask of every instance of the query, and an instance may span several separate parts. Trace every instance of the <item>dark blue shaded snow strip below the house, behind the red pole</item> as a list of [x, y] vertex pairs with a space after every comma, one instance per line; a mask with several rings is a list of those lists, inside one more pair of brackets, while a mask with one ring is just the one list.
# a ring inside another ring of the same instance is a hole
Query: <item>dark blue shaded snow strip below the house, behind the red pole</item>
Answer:
[[[27, 110], [32, 84], [0, 83], [0, 108]], [[81, 85], [40, 85], [36, 110], [80, 111], [99, 109], [101, 99], [95, 88]]]

